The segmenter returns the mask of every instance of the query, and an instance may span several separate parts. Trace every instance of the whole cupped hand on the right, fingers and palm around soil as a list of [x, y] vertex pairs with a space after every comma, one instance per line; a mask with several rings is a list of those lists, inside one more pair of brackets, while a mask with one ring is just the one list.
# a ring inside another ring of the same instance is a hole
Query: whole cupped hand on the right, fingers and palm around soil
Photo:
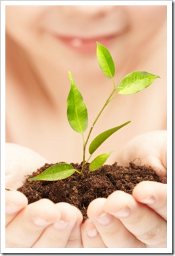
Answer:
[[[118, 152], [118, 164], [137, 160], [166, 178], [166, 131], [135, 137]], [[134, 161], [134, 162], [135, 162]], [[83, 246], [166, 247], [166, 184], [139, 183], [129, 195], [115, 191], [107, 199], [92, 201], [81, 227]]]

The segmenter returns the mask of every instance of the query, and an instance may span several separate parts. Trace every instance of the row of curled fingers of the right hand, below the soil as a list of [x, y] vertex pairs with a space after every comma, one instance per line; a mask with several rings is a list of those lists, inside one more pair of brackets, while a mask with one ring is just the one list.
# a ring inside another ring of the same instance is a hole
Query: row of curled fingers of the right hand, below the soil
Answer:
[[115, 191], [88, 207], [83, 247], [166, 247], [166, 184], [143, 181], [129, 195]]

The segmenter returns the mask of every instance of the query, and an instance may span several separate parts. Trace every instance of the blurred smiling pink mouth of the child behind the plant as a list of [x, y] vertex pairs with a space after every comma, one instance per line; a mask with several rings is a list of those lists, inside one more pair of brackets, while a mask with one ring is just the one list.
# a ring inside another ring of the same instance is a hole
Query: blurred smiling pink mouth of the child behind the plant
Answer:
[[116, 34], [112, 34], [109, 36], [97, 36], [94, 38], [81, 38], [54, 34], [54, 37], [57, 40], [62, 42], [65, 46], [68, 46], [73, 51], [87, 54], [96, 52], [96, 42], [100, 42], [101, 44], [108, 46], [116, 36]]

